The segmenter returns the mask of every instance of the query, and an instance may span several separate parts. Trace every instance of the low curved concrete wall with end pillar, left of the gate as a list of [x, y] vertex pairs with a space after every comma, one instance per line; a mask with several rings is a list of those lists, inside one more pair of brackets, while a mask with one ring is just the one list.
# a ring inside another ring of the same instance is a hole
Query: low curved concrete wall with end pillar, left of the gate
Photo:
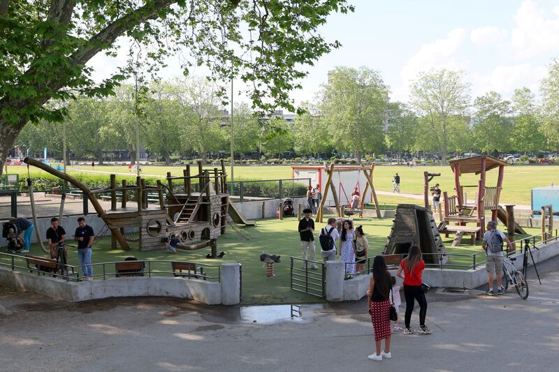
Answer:
[[194, 299], [208, 305], [234, 305], [240, 302], [240, 265], [224, 263], [220, 270], [221, 283], [201, 279], [158, 276], [131, 276], [81, 282], [67, 282], [37, 273], [11, 271], [0, 267], [0, 282], [24, 291], [80, 302], [109, 297], [161, 296]]

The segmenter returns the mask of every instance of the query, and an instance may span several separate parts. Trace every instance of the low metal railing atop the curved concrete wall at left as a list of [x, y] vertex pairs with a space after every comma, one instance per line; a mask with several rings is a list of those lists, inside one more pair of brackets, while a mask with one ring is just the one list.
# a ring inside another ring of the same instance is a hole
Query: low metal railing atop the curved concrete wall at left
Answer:
[[[31, 264], [29, 264], [31, 260]], [[80, 275], [82, 271], [81, 265], [57, 265], [54, 270], [39, 269], [36, 263], [44, 263], [52, 266], [53, 260], [48, 258], [39, 258], [36, 256], [28, 257], [24, 255], [17, 255], [11, 253], [0, 252], [0, 266], [8, 267], [12, 271], [29, 271], [37, 273], [38, 276], [53, 276], [62, 278], [66, 281], [80, 282], [85, 278]], [[138, 264], [138, 269], [117, 270], [117, 264]], [[190, 267], [191, 269], [183, 269], [183, 271], [173, 270], [173, 263], [182, 265], [183, 267]], [[36, 267], [32, 266], [36, 265]], [[108, 278], [117, 278], [118, 276], [177, 276], [181, 278], [203, 279], [207, 281], [216, 281], [220, 283], [221, 266], [209, 265], [199, 262], [180, 261], [180, 260], [128, 260], [128, 261], [111, 261], [111, 262], [98, 262], [91, 265], [93, 267], [94, 278], [106, 280]], [[61, 270], [64, 268], [64, 270]], [[199, 270], [202, 268], [202, 270]], [[208, 270], [210, 272], [208, 272]]]

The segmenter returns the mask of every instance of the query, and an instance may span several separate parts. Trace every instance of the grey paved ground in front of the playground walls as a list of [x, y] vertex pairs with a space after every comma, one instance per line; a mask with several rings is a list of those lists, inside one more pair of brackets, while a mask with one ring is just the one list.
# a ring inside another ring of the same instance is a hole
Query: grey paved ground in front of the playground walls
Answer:
[[539, 265], [541, 286], [529, 273], [527, 301], [514, 292], [430, 293], [434, 334], [394, 334], [393, 357], [382, 362], [367, 359], [373, 336], [363, 301], [303, 306], [300, 322], [263, 325], [242, 321], [237, 307], [66, 304], [0, 288], [0, 371], [557, 371], [557, 265]]

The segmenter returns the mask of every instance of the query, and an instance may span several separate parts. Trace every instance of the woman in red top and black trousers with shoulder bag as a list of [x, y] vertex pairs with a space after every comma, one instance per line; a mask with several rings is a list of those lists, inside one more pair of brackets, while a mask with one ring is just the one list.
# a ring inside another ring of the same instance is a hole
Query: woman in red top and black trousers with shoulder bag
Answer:
[[[404, 297], [406, 299], [406, 313], [405, 313], [405, 329], [404, 334], [414, 333], [414, 329], [409, 327], [409, 322], [412, 320], [412, 313], [414, 312], [414, 301], [419, 304], [419, 333], [431, 334], [431, 330], [425, 325], [425, 317], [427, 315], [427, 300], [425, 293], [421, 290], [421, 277], [425, 269], [425, 261], [421, 258], [421, 250], [419, 246], [409, 247], [407, 258], [400, 261], [400, 267], [396, 276], [404, 279]], [[402, 276], [402, 271], [404, 275]]]

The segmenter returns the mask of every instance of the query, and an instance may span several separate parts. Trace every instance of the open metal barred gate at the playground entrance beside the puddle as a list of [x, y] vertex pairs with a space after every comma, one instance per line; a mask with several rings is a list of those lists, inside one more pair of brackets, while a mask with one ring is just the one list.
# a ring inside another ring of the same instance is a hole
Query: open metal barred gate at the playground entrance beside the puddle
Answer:
[[[298, 265], [297, 265], [298, 264]], [[316, 269], [313, 269], [316, 267]], [[291, 257], [291, 289], [308, 295], [326, 297], [326, 267], [324, 263]]]

